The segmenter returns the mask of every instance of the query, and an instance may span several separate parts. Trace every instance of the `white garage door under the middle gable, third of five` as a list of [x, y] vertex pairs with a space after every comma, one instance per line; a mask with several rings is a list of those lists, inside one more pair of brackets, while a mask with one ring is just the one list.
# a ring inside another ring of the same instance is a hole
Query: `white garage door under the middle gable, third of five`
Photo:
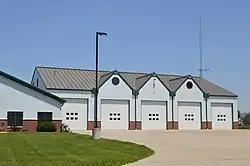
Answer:
[[141, 110], [142, 130], [166, 130], [166, 101], [142, 101]]

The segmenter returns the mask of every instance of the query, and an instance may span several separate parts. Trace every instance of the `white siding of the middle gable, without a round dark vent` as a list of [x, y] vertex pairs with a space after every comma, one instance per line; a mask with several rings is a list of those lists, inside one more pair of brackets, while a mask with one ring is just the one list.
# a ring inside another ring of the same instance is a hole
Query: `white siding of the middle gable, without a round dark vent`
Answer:
[[[153, 84], [155, 84], [153, 88]], [[168, 103], [168, 120], [172, 120], [172, 107], [169, 101], [169, 91], [168, 89], [158, 80], [156, 77], [152, 77], [148, 82], [140, 89], [139, 96], [137, 100], [137, 120], [142, 120], [142, 110], [141, 101], [166, 101]]]

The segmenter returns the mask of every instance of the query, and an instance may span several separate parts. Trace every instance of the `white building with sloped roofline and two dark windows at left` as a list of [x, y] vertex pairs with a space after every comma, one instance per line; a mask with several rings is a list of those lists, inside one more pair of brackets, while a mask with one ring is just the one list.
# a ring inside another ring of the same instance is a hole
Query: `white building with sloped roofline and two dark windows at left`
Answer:
[[60, 128], [65, 100], [0, 71], [0, 130], [11, 126], [36, 131], [38, 120], [50, 120]]

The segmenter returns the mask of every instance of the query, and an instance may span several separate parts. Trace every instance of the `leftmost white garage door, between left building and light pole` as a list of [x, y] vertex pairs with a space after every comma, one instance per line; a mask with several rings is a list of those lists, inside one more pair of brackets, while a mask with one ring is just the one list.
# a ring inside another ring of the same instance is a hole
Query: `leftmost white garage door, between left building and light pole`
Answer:
[[66, 99], [62, 107], [63, 123], [66, 123], [73, 131], [87, 130], [88, 100]]

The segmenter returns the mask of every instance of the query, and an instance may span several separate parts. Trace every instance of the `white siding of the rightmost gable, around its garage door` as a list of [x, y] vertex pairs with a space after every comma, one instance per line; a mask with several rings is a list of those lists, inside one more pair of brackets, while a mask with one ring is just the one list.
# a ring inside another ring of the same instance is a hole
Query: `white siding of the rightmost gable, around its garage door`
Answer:
[[[193, 83], [193, 87], [191, 89], [188, 89], [186, 87], [186, 83], [189, 81]], [[193, 82], [192, 79], [187, 79], [176, 92], [176, 96], [174, 99], [174, 121], [178, 120], [178, 111], [177, 111], [178, 101], [201, 102], [202, 103], [202, 121], [206, 121], [205, 99], [203, 98], [203, 92]]]

